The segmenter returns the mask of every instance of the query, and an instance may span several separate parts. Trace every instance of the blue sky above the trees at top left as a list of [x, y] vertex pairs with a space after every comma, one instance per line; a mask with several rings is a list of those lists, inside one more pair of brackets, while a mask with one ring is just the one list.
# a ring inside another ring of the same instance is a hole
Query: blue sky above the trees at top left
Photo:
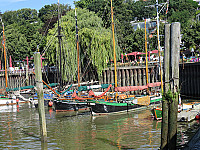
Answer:
[[[69, 4], [74, 8], [74, 1], [78, 0], [59, 0], [60, 4]], [[0, 12], [13, 11], [22, 8], [39, 10], [45, 5], [58, 3], [58, 0], [0, 0]]]

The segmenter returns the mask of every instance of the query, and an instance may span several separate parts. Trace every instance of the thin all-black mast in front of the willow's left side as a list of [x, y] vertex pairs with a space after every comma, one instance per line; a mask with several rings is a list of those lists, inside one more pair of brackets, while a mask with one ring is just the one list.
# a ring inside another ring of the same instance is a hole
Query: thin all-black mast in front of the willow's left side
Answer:
[[59, 44], [59, 50], [60, 50], [60, 69], [58, 69], [59, 70], [59, 83], [60, 83], [60, 87], [59, 87], [59, 89], [60, 89], [60, 91], [62, 90], [62, 86], [63, 86], [63, 84], [62, 84], [62, 60], [61, 60], [61, 37], [62, 37], [62, 35], [60, 34], [60, 31], [61, 31], [61, 26], [60, 26], [60, 22], [59, 22], [59, 20], [60, 20], [60, 12], [59, 12], [59, 7], [60, 7], [60, 4], [59, 4], [59, 0], [58, 0], [58, 35], [57, 35], [57, 37], [58, 37], [58, 44]]

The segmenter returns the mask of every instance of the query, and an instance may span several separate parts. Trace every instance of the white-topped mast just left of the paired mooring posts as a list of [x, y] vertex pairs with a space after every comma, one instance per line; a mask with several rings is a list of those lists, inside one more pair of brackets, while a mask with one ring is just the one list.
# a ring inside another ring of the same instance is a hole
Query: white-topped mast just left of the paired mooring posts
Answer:
[[162, 81], [162, 64], [160, 57], [160, 35], [159, 35], [159, 13], [158, 13], [158, 0], [156, 0], [156, 9], [157, 9], [157, 38], [158, 38], [158, 55], [159, 55], [159, 63], [160, 63], [160, 80], [161, 80], [161, 90], [163, 92], [163, 81]]

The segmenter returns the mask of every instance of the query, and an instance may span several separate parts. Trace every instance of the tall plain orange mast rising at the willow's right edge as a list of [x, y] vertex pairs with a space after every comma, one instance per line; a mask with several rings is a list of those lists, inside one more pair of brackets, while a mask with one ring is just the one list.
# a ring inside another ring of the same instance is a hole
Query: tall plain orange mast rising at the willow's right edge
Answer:
[[[114, 35], [114, 21], [113, 21], [113, 7], [111, 0], [111, 18], [112, 18], [112, 35], [113, 35], [113, 52], [114, 52], [114, 68], [115, 68], [115, 88], [117, 87], [117, 65], [116, 65], [116, 52], [115, 52], [115, 35]], [[117, 93], [116, 93], [117, 96]]]

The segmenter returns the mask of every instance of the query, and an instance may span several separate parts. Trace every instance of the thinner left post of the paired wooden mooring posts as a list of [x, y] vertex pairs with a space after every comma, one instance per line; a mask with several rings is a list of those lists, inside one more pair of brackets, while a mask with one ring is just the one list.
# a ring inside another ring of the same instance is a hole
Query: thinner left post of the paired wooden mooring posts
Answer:
[[161, 146], [162, 150], [168, 149], [168, 105], [166, 94], [169, 91], [170, 76], [170, 24], [165, 24], [165, 51], [164, 51], [164, 93], [162, 96], [162, 128]]

